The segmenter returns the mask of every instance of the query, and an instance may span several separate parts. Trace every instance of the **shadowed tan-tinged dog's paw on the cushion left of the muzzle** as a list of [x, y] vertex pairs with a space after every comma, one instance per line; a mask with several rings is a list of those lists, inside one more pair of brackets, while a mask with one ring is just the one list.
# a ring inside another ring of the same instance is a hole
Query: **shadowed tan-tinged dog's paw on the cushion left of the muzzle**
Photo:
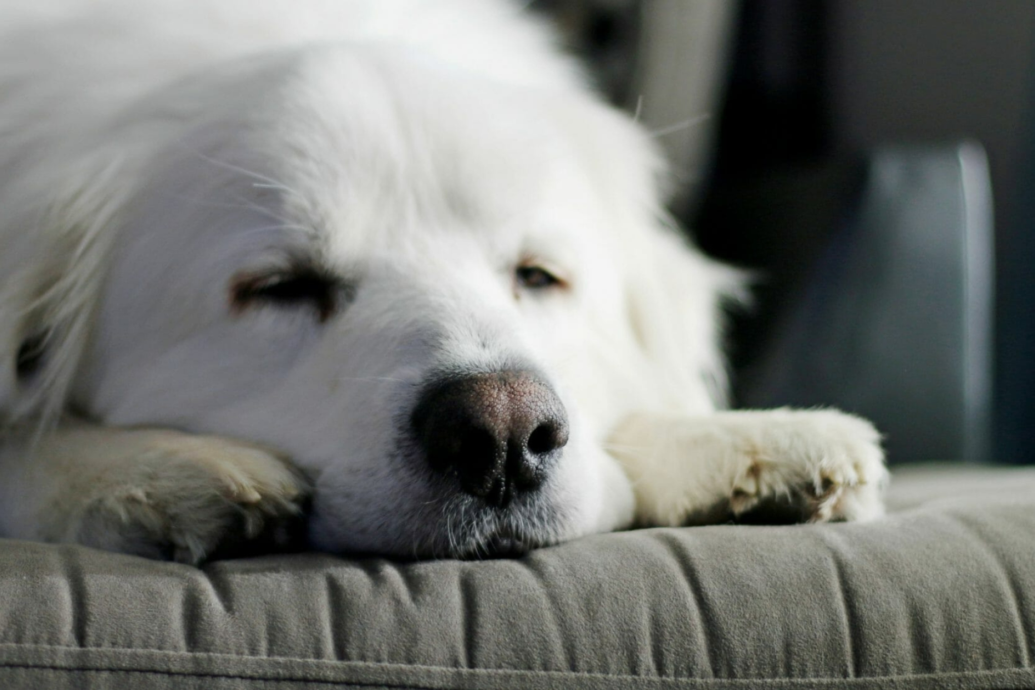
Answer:
[[139, 433], [146, 441], [135, 444], [131, 461], [69, 498], [79, 506], [69, 516], [73, 541], [198, 564], [297, 538], [308, 489], [284, 458], [216, 437]]

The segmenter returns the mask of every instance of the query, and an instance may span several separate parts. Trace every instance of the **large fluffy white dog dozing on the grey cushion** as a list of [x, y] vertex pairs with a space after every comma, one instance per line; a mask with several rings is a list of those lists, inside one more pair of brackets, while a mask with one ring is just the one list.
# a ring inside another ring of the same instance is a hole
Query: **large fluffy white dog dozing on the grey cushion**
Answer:
[[664, 186], [502, 0], [7, 3], [0, 536], [197, 563], [304, 511], [314, 548], [463, 558], [880, 515], [868, 422], [719, 411], [741, 276]]

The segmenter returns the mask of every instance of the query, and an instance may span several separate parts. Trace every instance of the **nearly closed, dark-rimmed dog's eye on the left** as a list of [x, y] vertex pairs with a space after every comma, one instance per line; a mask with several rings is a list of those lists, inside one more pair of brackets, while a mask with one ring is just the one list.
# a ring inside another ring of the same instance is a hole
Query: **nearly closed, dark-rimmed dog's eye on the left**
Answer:
[[231, 301], [237, 310], [257, 304], [312, 307], [320, 321], [326, 321], [337, 308], [341, 293], [333, 278], [315, 270], [298, 270], [238, 277], [231, 288]]

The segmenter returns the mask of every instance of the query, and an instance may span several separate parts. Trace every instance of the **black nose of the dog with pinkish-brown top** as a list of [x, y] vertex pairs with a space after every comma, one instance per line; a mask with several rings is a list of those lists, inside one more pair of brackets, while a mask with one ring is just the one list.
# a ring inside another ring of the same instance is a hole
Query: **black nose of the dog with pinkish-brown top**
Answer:
[[564, 406], [528, 371], [445, 379], [414, 408], [416, 438], [432, 468], [466, 492], [505, 507], [539, 487], [568, 442]]

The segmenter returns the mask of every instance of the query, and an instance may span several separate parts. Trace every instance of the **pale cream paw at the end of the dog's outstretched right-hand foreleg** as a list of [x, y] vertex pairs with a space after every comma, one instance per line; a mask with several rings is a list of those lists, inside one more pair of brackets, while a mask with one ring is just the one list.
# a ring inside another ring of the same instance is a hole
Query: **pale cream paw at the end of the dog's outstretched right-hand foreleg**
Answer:
[[729, 500], [733, 515], [810, 522], [883, 515], [888, 472], [873, 424], [834, 410], [786, 414], [764, 443], [748, 441], [748, 463]]

